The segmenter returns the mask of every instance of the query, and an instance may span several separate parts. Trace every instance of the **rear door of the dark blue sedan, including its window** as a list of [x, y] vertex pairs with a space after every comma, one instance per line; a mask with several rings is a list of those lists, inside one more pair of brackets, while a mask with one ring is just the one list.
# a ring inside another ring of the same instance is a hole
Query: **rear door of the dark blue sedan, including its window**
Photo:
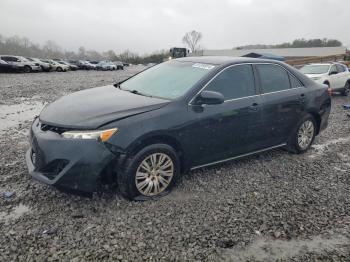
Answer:
[[283, 144], [297, 125], [304, 104], [305, 87], [284, 67], [277, 64], [255, 65], [262, 94], [264, 147]]

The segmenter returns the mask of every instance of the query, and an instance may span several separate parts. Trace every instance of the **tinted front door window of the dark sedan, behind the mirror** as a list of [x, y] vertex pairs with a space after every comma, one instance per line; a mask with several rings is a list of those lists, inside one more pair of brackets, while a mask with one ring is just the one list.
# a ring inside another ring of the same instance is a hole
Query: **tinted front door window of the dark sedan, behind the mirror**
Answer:
[[225, 100], [255, 95], [254, 74], [251, 65], [237, 65], [225, 69], [206, 87], [223, 94]]

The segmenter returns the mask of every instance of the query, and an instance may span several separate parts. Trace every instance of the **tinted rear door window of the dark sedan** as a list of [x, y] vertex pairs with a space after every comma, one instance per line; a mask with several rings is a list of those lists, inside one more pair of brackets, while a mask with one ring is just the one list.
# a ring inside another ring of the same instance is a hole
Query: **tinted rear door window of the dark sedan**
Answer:
[[277, 65], [256, 65], [263, 93], [282, 91], [290, 88], [286, 70]]

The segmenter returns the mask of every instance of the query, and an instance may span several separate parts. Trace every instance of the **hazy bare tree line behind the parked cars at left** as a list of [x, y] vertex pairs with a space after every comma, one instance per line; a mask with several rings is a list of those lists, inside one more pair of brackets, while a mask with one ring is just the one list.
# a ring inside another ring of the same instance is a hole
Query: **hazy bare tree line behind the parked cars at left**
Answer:
[[160, 63], [169, 56], [169, 51], [161, 50], [150, 55], [140, 56], [129, 50], [116, 54], [113, 50], [98, 52], [79, 47], [77, 52], [66, 51], [54, 41], [46, 41], [43, 45], [31, 42], [27, 37], [17, 35], [4, 37], [0, 35], [0, 54], [24, 57], [90, 60], [90, 61], [123, 61], [132, 64]]

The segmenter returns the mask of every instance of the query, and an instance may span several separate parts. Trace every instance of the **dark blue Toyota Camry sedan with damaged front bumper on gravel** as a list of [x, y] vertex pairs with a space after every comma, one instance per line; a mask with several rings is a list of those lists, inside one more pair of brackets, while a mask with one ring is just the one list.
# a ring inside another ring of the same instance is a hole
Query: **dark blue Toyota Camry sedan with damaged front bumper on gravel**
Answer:
[[30, 130], [29, 173], [128, 199], [169, 192], [186, 171], [285, 147], [303, 153], [328, 124], [327, 87], [277, 61], [188, 57], [62, 97]]

